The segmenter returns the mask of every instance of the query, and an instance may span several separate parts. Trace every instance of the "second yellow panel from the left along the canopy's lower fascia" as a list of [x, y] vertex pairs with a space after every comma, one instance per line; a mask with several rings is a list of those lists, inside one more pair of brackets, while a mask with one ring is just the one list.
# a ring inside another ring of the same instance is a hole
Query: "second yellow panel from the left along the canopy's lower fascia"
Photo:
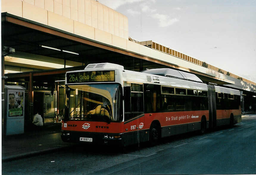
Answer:
[[23, 17], [47, 25], [47, 10], [23, 2]]

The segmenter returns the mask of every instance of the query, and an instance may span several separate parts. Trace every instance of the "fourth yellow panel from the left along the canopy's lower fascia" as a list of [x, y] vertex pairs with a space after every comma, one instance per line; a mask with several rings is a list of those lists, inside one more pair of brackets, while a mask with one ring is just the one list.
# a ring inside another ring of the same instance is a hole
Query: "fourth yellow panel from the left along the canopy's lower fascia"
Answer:
[[74, 21], [74, 34], [93, 40], [95, 39], [95, 29], [77, 21]]

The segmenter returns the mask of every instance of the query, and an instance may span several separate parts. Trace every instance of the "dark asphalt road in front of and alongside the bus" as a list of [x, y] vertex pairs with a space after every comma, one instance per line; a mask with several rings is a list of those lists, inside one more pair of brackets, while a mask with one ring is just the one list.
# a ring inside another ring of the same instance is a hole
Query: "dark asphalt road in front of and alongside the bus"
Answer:
[[2, 174], [256, 174], [256, 115], [233, 128], [168, 137], [159, 145], [74, 145], [2, 162]]

